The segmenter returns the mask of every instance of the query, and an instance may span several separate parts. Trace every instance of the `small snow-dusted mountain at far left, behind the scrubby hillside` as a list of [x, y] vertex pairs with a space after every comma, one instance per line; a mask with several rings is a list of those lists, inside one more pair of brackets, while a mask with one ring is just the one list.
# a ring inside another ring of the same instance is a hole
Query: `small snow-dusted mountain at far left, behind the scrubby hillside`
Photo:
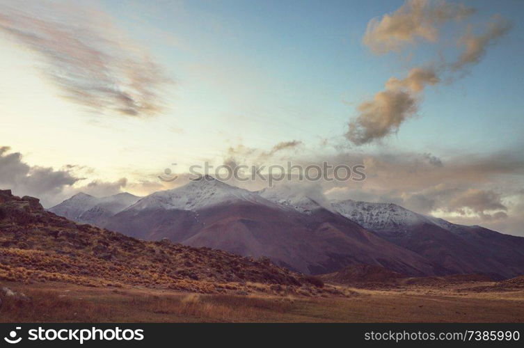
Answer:
[[106, 197], [95, 197], [81, 192], [47, 210], [73, 221], [102, 226], [107, 218], [133, 205], [139, 199], [140, 197], [127, 192]]

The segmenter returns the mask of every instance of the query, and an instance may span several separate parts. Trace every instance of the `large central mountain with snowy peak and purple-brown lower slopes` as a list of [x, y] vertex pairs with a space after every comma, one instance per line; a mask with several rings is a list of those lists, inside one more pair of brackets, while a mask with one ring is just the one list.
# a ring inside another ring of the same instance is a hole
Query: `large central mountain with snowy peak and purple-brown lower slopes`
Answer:
[[358, 262], [388, 264], [406, 274], [434, 274], [424, 258], [338, 213], [320, 209], [304, 196], [289, 197], [286, 202], [294, 205], [203, 177], [142, 198], [112, 216], [104, 227], [141, 239], [168, 238], [255, 258], [265, 255], [307, 274]]

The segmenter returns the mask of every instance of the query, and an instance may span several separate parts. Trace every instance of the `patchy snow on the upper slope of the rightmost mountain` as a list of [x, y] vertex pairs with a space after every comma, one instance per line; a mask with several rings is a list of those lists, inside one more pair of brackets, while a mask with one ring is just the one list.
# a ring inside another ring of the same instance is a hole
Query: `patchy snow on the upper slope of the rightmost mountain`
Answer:
[[402, 232], [422, 223], [435, 224], [427, 216], [392, 203], [368, 203], [356, 200], [340, 200], [332, 203], [342, 216], [370, 230], [395, 230]]

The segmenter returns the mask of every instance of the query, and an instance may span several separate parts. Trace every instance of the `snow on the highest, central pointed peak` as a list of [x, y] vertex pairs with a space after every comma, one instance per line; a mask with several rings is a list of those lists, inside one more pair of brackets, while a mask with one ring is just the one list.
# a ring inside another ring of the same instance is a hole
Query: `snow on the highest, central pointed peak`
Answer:
[[276, 204], [262, 198], [256, 192], [233, 187], [206, 175], [176, 189], [158, 191], [138, 200], [126, 210], [166, 209], [196, 211], [214, 205], [237, 203], [239, 201], [276, 207]]

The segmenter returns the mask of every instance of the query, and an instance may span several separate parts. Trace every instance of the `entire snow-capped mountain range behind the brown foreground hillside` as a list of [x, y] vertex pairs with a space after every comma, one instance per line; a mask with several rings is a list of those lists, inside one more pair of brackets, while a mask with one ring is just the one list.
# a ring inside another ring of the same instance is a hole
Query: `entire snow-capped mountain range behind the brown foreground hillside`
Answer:
[[79, 193], [49, 211], [139, 239], [266, 256], [304, 274], [354, 264], [408, 276], [524, 273], [523, 237], [390, 203], [328, 201], [286, 186], [248, 191], [206, 176], [143, 198]]

